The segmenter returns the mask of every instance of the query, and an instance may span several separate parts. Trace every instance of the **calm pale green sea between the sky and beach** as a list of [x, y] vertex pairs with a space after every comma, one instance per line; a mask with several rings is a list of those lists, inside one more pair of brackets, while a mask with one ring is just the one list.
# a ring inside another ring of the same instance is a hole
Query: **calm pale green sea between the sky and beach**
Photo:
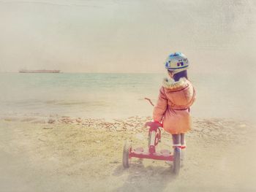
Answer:
[[[125, 118], [151, 115], [166, 74], [0, 73], [0, 115], [71, 115]], [[192, 115], [248, 118], [255, 92], [235, 74], [192, 74], [197, 90]], [[249, 96], [249, 97], [248, 97]], [[251, 109], [252, 110], [252, 109]], [[253, 115], [253, 112], [251, 113]]]

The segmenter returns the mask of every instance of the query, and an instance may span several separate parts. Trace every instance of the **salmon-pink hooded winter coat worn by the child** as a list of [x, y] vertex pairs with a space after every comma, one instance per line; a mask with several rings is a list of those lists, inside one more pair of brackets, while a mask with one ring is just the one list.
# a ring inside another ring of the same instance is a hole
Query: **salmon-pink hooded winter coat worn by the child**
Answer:
[[184, 134], [191, 129], [189, 107], [195, 101], [195, 88], [186, 78], [178, 82], [165, 79], [154, 107], [153, 119], [162, 121], [170, 134]]

